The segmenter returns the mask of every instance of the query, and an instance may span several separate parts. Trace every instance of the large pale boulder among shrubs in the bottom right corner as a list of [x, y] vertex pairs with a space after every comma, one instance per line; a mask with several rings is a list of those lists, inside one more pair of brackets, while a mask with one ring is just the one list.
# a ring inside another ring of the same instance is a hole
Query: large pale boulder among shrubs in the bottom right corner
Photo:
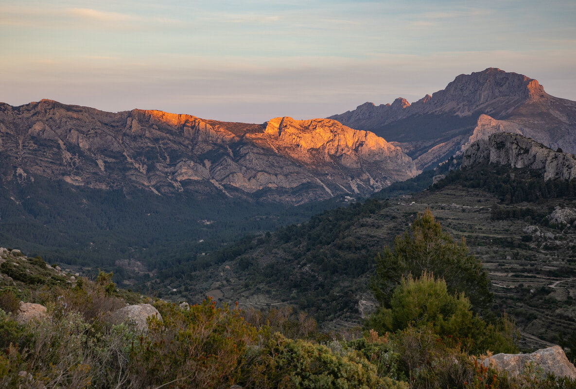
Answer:
[[566, 358], [560, 346], [536, 350], [531, 354], [500, 353], [482, 361], [485, 367], [492, 365], [514, 377], [522, 373], [528, 363], [534, 363], [536, 368], [541, 367], [544, 374], [552, 373], [557, 377], [576, 379], [576, 367]]

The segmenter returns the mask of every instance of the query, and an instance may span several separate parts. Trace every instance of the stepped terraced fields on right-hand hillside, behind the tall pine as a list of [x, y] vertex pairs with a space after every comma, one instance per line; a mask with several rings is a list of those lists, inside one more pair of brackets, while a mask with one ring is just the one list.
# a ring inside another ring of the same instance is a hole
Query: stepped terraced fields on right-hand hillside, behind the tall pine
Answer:
[[[490, 193], [458, 186], [442, 192], [395, 200], [382, 213], [407, 217], [430, 207], [454, 238], [464, 237], [471, 253], [481, 258], [492, 282], [499, 310], [516, 318], [522, 345], [555, 341], [576, 327], [576, 228], [552, 228], [531, 218], [493, 220], [498, 203]], [[500, 206], [502, 207], [502, 206]], [[575, 208], [564, 201], [520, 203], [513, 208]], [[533, 227], [530, 227], [533, 226]], [[535, 228], [536, 227], [536, 228]]]

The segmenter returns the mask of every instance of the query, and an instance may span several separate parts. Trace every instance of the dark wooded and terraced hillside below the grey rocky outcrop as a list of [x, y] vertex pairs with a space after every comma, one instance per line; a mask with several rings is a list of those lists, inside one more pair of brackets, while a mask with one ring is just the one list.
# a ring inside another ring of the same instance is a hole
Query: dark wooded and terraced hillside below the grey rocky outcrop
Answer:
[[244, 238], [207, 255], [201, 269], [181, 264], [150, 285], [173, 298], [208, 293], [248, 305], [296, 304], [325, 326], [352, 325], [376, 305], [367, 287], [374, 257], [430, 208], [482, 260], [493, 308], [517, 320], [522, 344], [545, 345], [575, 323], [574, 185], [502, 166], [452, 171], [421, 193], [367, 200]]

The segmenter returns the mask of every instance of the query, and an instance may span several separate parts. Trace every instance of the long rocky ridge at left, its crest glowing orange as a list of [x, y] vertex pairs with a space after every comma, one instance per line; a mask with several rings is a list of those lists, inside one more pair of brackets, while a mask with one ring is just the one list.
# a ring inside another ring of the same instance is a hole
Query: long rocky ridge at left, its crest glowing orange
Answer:
[[225, 123], [158, 110], [0, 104], [0, 180], [300, 204], [367, 195], [419, 171], [398, 147], [335, 120]]

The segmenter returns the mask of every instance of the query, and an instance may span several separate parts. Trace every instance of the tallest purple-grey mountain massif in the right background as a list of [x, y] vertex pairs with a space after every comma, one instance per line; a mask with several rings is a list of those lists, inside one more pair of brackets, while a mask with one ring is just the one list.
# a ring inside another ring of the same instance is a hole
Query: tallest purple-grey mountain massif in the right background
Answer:
[[515, 132], [576, 152], [576, 102], [550, 96], [535, 79], [498, 68], [458, 75], [413, 104], [403, 98], [378, 106], [366, 102], [330, 119], [384, 137], [419, 169], [494, 132]]

